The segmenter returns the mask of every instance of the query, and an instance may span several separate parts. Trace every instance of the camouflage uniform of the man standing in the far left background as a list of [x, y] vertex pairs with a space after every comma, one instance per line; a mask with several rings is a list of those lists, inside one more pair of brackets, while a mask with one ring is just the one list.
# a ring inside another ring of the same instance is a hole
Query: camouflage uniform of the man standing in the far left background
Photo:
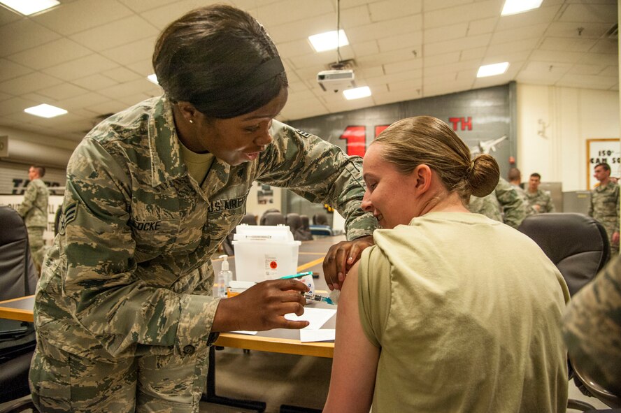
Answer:
[[36, 268], [41, 268], [45, 254], [43, 231], [48, 226], [48, 198], [48, 187], [43, 180], [37, 178], [29, 182], [24, 201], [17, 207], [17, 212], [24, 218], [28, 229], [30, 253]]

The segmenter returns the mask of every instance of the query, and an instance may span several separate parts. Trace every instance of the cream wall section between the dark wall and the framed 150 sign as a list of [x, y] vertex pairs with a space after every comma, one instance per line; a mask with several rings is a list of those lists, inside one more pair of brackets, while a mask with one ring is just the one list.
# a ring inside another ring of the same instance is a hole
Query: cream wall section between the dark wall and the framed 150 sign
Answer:
[[522, 180], [538, 172], [563, 191], [587, 189], [587, 139], [620, 137], [619, 106], [617, 91], [518, 83]]

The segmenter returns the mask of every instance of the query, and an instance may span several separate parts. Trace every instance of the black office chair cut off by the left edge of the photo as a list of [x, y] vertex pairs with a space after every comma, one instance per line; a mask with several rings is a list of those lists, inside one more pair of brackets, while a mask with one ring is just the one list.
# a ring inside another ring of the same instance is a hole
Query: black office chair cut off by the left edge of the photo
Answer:
[[[0, 228], [0, 300], [34, 294], [36, 267], [22, 217], [15, 210], [1, 206]], [[0, 319], [0, 403], [30, 394], [28, 371], [35, 345], [32, 323]], [[27, 409], [34, 409], [31, 400], [14, 403], [2, 412]]]

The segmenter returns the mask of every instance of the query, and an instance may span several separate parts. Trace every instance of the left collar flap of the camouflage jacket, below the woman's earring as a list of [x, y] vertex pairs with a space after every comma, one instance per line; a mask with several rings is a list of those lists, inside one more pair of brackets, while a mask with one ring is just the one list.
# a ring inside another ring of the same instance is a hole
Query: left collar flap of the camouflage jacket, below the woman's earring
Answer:
[[160, 96], [150, 113], [149, 152], [151, 155], [151, 184], [153, 187], [185, 175], [181, 164], [180, 147], [171, 103]]

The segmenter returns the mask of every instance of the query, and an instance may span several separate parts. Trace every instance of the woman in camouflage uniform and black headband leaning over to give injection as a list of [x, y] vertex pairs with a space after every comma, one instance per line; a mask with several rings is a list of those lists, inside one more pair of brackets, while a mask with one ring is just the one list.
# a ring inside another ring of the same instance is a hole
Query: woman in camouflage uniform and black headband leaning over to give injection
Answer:
[[69, 162], [36, 294], [41, 412], [197, 412], [217, 332], [306, 325], [284, 318], [304, 312], [301, 282], [211, 296], [210, 256], [253, 181], [336, 206], [352, 242], [333, 250], [335, 271], [372, 242], [360, 159], [273, 120], [287, 78], [248, 13], [187, 13], [160, 35], [153, 65], [164, 95], [103, 121]]

